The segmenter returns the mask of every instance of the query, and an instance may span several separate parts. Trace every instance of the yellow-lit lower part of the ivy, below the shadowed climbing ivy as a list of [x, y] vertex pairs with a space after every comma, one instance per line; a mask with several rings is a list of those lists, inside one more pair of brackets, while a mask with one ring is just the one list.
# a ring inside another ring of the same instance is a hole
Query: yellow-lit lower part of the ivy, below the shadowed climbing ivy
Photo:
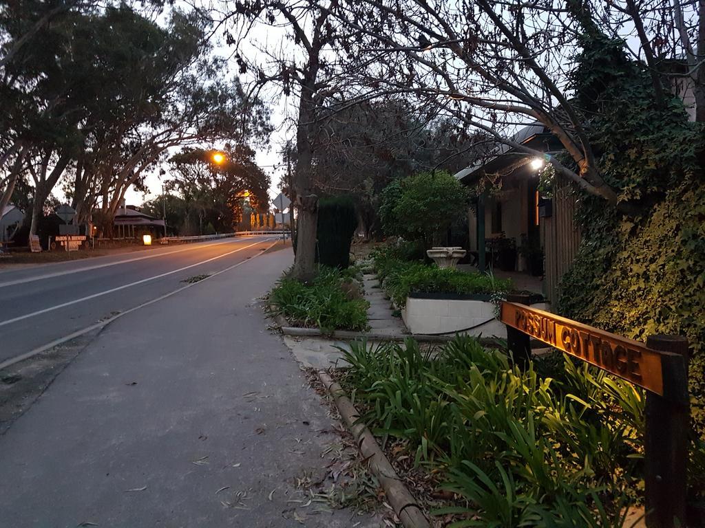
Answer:
[[705, 439], [705, 186], [672, 189], [637, 220], [603, 215], [584, 225], [560, 313], [639, 341], [685, 335], [692, 416]]

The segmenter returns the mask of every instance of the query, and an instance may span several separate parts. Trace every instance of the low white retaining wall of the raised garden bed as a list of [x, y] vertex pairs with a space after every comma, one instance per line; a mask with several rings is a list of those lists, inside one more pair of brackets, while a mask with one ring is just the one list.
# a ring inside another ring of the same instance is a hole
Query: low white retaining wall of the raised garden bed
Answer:
[[[548, 310], [546, 303], [533, 305]], [[401, 310], [405, 325], [412, 334], [470, 334], [506, 339], [505, 325], [496, 320], [495, 305], [485, 301], [409, 297]], [[479, 325], [479, 326], [478, 326]], [[470, 327], [475, 327], [465, 330]]]

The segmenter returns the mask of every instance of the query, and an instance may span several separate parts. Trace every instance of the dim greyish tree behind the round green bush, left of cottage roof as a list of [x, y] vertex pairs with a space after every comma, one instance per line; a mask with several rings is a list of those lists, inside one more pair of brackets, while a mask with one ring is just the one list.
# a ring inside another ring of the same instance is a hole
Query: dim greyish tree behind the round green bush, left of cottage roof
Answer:
[[390, 182], [420, 170], [457, 172], [478, 139], [457, 122], [438, 120], [400, 100], [341, 101], [324, 112], [332, 115], [319, 129], [314, 184], [321, 196], [353, 197], [367, 239], [381, 234], [381, 191]]

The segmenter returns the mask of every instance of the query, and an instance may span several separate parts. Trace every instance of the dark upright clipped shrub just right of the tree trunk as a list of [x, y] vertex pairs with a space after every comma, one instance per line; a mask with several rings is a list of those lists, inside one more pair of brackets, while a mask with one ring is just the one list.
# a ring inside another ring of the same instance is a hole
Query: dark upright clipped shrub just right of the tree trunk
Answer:
[[357, 227], [350, 196], [321, 198], [318, 203], [318, 261], [344, 270], [350, 265], [350, 244]]

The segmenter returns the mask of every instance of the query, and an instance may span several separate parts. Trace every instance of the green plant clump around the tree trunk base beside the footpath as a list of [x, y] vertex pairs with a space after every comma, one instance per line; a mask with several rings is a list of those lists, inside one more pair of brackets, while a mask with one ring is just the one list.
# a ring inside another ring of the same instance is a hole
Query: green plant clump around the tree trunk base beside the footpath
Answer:
[[369, 303], [362, 298], [358, 275], [360, 270], [353, 266], [344, 271], [321, 266], [310, 284], [283, 277], [269, 298], [291, 325], [319, 327], [326, 333], [364, 330]]

